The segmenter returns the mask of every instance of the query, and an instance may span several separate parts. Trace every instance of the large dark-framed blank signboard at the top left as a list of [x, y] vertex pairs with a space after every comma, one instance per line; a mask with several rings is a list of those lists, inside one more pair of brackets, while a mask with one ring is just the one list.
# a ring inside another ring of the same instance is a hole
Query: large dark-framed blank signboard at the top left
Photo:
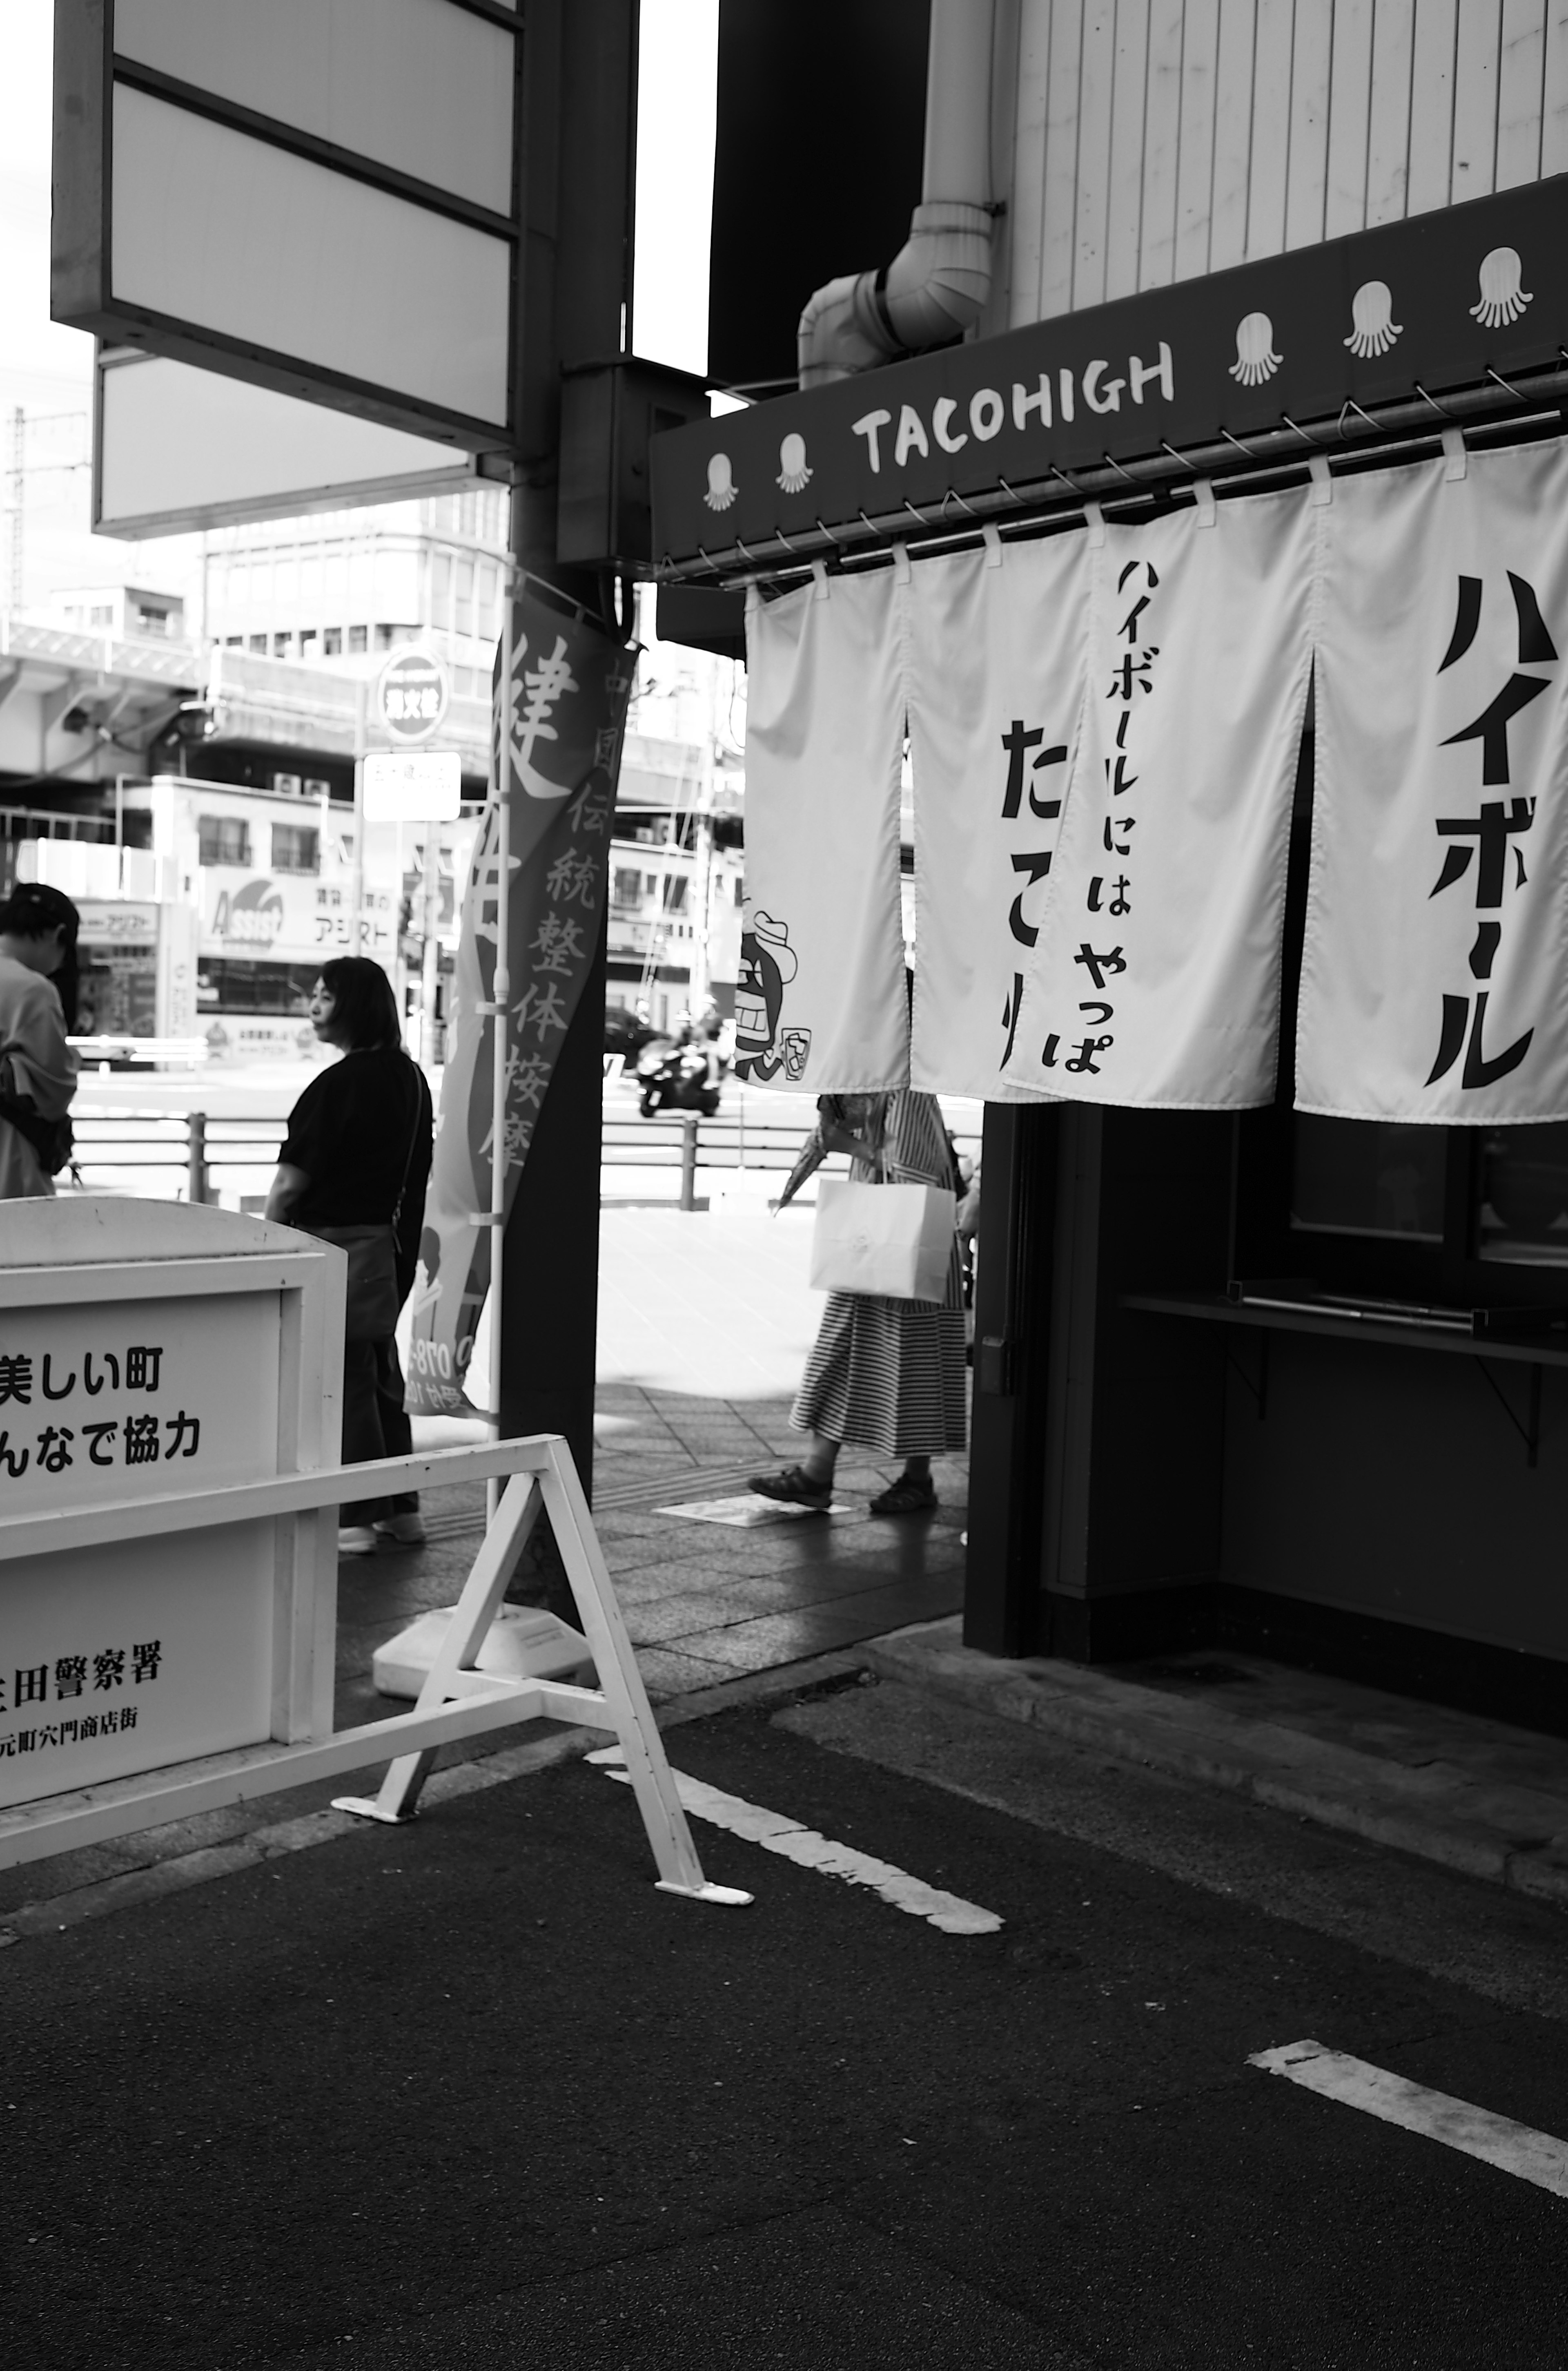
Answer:
[[54, 320], [509, 448], [521, 31], [493, 0], [57, 0]]

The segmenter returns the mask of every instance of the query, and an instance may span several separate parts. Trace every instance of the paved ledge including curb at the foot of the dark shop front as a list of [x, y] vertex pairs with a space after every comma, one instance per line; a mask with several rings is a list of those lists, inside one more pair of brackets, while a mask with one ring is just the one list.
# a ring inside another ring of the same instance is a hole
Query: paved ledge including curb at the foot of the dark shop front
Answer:
[[1568, 1740], [1229, 1648], [1113, 1672], [874, 1638], [881, 1676], [1568, 1909]]

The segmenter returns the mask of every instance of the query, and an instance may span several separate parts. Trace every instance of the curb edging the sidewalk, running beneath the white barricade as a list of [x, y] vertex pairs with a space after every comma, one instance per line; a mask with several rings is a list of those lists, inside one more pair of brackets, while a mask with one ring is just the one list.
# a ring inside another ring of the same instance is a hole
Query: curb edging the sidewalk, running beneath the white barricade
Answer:
[[[730, 1712], [737, 1705], [765, 1705], [775, 1695], [796, 1695], [815, 1688], [824, 1679], [846, 1679], [865, 1672], [865, 1653], [836, 1648], [829, 1655], [812, 1655], [805, 1662], [784, 1662], [767, 1672], [746, 1672], [741, 1679], [720, 1679], [713, 1688], [694, 1688], [689, 1695], [673, 1695], [654, 1705], [654, 1724], [680, 1728], [685, 1721], [708, 1719], [713, 1712]], [[457, 1802], [462, 1795], [483, 1795], [486, 1788], [505, 1785], [512, 1778], [528, 1778], [533, 1771], [552, 1769], [557, 1762], [576, 1762], [604, 1743], [602, 1728], [554, 1728], [528, 1745], [505, 1745], [495, 1755], [471, 1762], [448, 1762], [431, 1774], [419, 1797], [422, 1809]], [[369, 1764], [377, 1769], [379, 1764]], [[343, 1774], [343, 1783], [353, 1771]], [[147, 1840], [156, 1828], [142, 1830]], [[313, 1845], [332, 1845], [341, 1835], [367, 1835], [372, 1830], [351, 1811], [303, 1811], [296, 1819], [279, 1819], [270, 1826], [249, 1828], [223, 1845], [197, 1845], [189, 1852], [173, 1852], [149, 1859], [140, 1868], [118, 1871], [111, 1878], [95, 1878], [69, 1892], [24, 1902], [7, 1911], [0, 1923], [0, 1951], [7, 1944], [28, 1942], [45, 1935], [64, 1935], [88, 1918], [109, 1918], [114, 1911], [135, 1909], [140, 1902], [161, 1902], [166, 1894], [189, 1892], [192, 1885], [211, 1885], [216, 1878], [239, 1875], [244, 1868], [261, 1868], [265, 1861], [284, 1859], [291, 1852], [310, 1852]], [[47, 1864], [43, 1864], [47, 1866]]]

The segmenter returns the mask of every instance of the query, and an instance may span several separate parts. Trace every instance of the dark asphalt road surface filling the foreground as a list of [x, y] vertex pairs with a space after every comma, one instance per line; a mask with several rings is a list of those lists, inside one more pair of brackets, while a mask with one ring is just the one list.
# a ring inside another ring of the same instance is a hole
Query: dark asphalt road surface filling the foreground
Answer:
[[1568, 2362], [1568, 2200], [1248, 2065], [1568, 2136], [1563, 1921], [900, 1688], [559, 1766], [0, 1954], [5, 2354], [192, 2371]]

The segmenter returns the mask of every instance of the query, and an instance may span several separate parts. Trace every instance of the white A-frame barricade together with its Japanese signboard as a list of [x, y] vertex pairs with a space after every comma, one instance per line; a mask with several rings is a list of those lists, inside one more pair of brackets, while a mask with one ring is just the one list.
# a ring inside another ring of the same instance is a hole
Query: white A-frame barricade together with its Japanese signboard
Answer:
[[[0, 1868], [438, 1745], [611, 1731], [663, 1892], [708, 1885], [566, 1442], [339, 1463], [346, 1257], [204, 1204], [0, 1204]], [[332, 1726], [336, 1508], [505, 1480], [412, 1712]], [[595, 1686], [476, 1669], [550, 1520]]]

